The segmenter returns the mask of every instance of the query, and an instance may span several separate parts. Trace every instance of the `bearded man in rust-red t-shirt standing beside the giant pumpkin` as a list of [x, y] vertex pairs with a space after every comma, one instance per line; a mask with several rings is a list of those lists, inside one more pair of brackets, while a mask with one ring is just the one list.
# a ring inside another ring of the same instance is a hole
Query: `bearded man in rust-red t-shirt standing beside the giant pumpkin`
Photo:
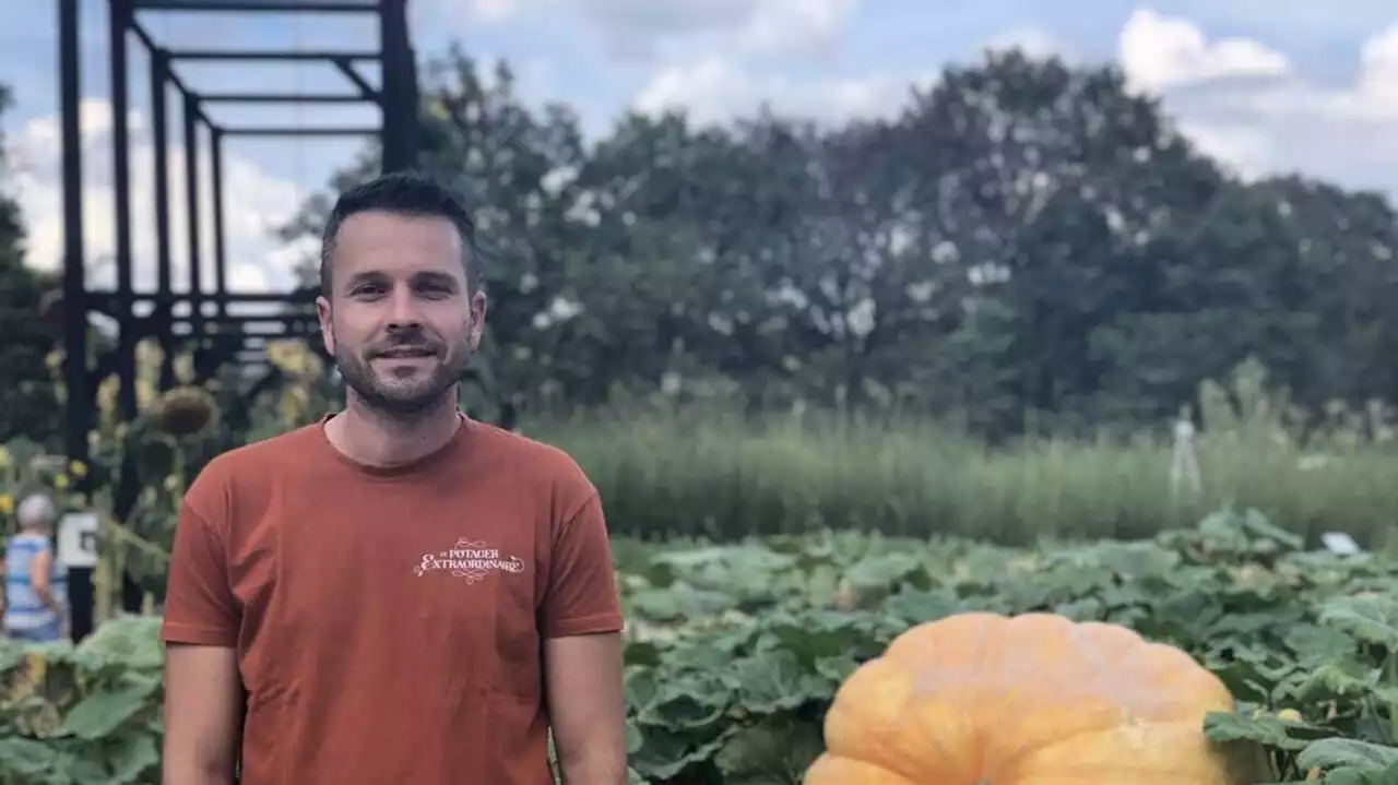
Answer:
[[[166, 785], [626, 782], [603, 508], [563, 453], [475, 422], [475, 229], [429, 180], [344, 194], [317, 299], [347, 405], [219, 455], [166, 591]], [[239, 754], [240, 753], [240, 754]]]

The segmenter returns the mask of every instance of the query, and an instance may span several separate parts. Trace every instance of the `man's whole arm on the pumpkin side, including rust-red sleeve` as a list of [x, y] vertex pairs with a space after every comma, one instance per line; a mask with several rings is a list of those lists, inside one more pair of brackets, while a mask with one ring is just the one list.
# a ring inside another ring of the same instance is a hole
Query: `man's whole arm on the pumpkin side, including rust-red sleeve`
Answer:
[[544, 690], [565, 785], [626, 785], [622, 616], [596, 492], [563, 524], [544, 605]]

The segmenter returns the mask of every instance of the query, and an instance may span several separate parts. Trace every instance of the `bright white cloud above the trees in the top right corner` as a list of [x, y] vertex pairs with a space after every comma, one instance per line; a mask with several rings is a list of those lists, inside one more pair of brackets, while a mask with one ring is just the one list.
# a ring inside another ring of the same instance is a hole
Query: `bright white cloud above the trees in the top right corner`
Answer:
[[1254, 177], [1286, 172], [1398, 193], [1398, 22], [1371, 35], [1349, 85], [1307, 80], [1279, 50], [1209, 41], [1142, 8], [1118, 39], [1130, 82], [1163, 98], [1201, 149]]

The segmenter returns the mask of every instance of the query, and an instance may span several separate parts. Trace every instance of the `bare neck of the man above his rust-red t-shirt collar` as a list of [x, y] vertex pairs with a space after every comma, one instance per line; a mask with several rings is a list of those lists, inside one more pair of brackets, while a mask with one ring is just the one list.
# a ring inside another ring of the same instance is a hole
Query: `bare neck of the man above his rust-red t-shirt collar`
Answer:
[[351, 460], [372, 467], [393, 467], [429, 455], [452, 440], [461, 416], [454, 397], [443, 397], [411, 416], [366, 406], [350, 394], [345, 411], [326, 423], [330, 444]]

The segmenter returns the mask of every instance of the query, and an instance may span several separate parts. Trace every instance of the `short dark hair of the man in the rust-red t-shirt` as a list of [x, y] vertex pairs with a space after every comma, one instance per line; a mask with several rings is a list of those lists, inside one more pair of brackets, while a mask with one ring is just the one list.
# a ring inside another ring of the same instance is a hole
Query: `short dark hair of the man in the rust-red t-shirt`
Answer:
[[452, 189], [419, 172], [390, 172], [340, 194], [320, 235], [320, 291], [331, 296], [331, 272], [340, 226], [359, 212], [393, 212], [424, 218], [446, 218], [456, 225], [466, 246], [466, 285], [468, 292], [481, 286], [481, 253], [475, 243], [475, 219]]

